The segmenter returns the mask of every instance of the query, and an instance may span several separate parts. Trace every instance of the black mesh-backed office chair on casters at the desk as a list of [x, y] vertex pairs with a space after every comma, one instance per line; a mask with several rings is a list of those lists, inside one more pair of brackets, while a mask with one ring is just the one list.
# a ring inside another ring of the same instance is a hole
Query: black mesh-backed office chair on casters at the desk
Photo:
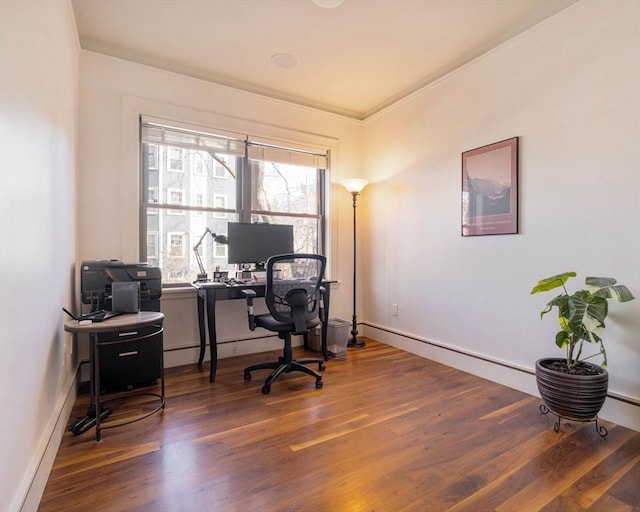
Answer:
[[299, 371], [307, 373], [316, 379], [316, 389], [322, 387], [322, 375], [306, 366], [318, 364], [318, 371], [325, 369], [324, 360], [298, 359], [293, 360], [291, 349], [291, 335], [307, 336], [309, 329], [316, 327], [324, 318], [322, 296], [325, 289], [320, 285], [327, 260], [319, 254], [281, 254], [267, 260], [267, 284], [265, 302], [269, 313], [253, 314], [253, 290], [244, 290], [247, 297], [249, 329], [263, 327], [277, 332], [284, 340], [282, 356], [277, 361], [256, 364], [244, 369], [244, 380], [251, 380], [254, 370], [272, 369], [262, 386], [266, 395], [271, 391], [271, 384], [282, 373]]

